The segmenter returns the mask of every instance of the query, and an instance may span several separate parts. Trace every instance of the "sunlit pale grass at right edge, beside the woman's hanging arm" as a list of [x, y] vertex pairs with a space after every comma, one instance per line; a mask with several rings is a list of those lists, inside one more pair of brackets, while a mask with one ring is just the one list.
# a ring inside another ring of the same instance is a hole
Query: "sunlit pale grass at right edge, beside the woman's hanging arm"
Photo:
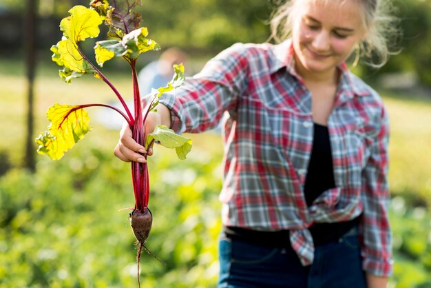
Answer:
[[[431, 97], [391, 96], [385, 103], [390, 116], [390, 189], [412, 204], [431, 204]], [[413, 195], [412, 195], [413, 194]]]

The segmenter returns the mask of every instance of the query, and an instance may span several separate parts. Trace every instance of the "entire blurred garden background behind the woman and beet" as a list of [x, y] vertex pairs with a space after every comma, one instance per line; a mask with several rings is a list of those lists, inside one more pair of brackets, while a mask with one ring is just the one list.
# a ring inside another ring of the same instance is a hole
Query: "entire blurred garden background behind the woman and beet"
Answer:
[[[275, 0], [142, 0], [137, 10], [162, 51], [181, 48], [191, 75], [235, 42], [263, 42]], [[431, 1], [395, 0], [401, 52], [380, 70], [355, 73], [376, 88], [390, 114], [390, 219], [395, 273], [390, 287], [431, 287]], [[94, 129], [61, 159], [36, 154], [53, 103], [108, 103], [98, 79], [63, 83], [50, 47], [78, 0], [0, 0], [0, 287], [137, 287], [128, 210], [129, 164], [112, 155], [118, 129], [88, 110]], [[103, 28], [105, 29], [105, 28]], [[103, 30], [105, 31], [105, 30]], [[99, 39], [105, 39], [101, 33]], [[94, 41], [84, 44], [92, 54]], [[140, 57], [140, 68], [161, 52]], [[132, 98], [128, 65], [103, 71]], [[109, 117], [108, 117], [109, 118]], [[217, 132], [188, 135], [186, 161], [156, 147], [149, 160], [154, 224], [147, 245], [167, 263], [141, 258], [143, 287], [215, 287], [218, 276], [222, 141]]]

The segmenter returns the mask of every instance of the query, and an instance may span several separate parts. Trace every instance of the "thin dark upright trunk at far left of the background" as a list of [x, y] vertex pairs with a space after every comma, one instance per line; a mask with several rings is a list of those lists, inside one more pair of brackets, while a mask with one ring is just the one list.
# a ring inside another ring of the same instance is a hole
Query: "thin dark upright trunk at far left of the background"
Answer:
[[36, 14], [37, 0], [27, 0], [24, 18], [25, 69], [27, 74], [27, 134], [25, 136], [24, 166], [34, 172], [34, 70], [36, 68]]

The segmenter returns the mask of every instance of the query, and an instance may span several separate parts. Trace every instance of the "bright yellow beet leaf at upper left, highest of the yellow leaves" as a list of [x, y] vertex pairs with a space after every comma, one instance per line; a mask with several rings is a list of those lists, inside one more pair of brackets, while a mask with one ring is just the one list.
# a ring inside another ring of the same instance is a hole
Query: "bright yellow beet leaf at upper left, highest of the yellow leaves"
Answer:
[[69, 13], [70, 17], [60, 22], [60, 30], [67, 39], [76, 43], [88, 37], [98, 37], [101, 32], [98, 26], [103, 22], [103, 17], [98, 12], [78, 5], [70, 9]]

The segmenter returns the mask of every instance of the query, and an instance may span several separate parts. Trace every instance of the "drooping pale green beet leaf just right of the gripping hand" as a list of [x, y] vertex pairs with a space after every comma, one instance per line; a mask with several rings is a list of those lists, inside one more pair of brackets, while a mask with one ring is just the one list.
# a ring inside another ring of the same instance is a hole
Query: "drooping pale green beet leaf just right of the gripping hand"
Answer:
[[192, 141], [181, 135], [178, 135], [174, 130], [169, 129], [164, 125], [157, 125], [154, 132], [147, 137], [147, 146], [151, 141], [159, 141], [161, 145], [167, 148], [175, 148], [178, 158], [184, 160], [191, 150]]

